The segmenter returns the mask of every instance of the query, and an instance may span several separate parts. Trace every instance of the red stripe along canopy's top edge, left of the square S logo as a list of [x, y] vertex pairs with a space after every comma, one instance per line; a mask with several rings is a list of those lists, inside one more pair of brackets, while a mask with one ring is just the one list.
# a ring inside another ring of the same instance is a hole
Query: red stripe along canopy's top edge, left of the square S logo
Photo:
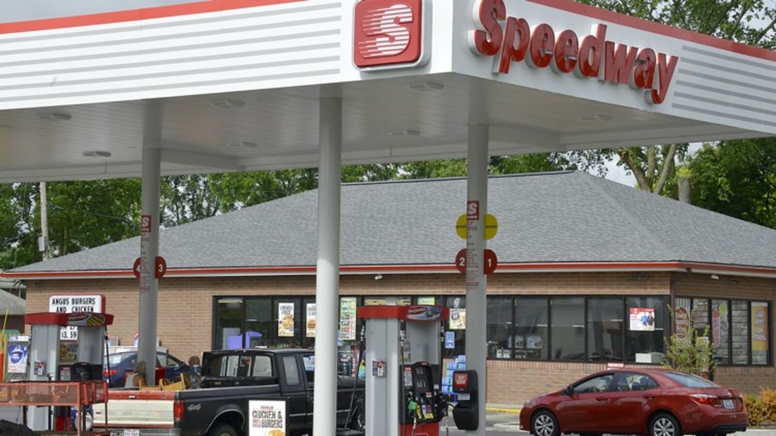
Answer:
[[165, 18], [170, 16], [185, 16], [204, 12], [227, 11], [230, 9], [244, 9], [254, 6], [279, 5], [282, 3], [304, 1], [306, 0], [204, 0], [203, 2], [154, 6], [152, 8], [130, 9], [127, 11], [101, 12], [83, 16], [64, 16], [50, 19], [6, 22], [0, 24], [0, 33], [33, 32], [35, 30], [94, 26], [96, 24]]

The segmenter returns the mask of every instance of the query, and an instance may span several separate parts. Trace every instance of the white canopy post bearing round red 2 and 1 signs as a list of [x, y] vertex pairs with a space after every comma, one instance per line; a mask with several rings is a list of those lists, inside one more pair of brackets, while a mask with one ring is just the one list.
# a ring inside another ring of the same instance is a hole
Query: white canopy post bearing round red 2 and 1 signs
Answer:
[[477, 372], [480, 427], [466, 434], [484, 436], [487, 399], [486, 289], [484, 272], [485, 214], [487, 213], [488, 126], [469, 125], [466, 185], [466, 369]]

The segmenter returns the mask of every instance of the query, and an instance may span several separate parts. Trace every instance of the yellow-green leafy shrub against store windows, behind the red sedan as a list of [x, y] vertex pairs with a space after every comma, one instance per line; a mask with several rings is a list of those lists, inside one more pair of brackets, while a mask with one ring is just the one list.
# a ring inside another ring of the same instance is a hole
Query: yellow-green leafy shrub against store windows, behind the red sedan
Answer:
[[[671, 306], [668, 306], [668, 311], [671, 319], [675, 319]], [[663, 355], [663, 367], [695, 375], [711, 374], [714, 372], [716, 362], [714, 362], [712, 342], [708, 340], [710, 330], [706, 326], [703, 334], [698, 335], [698, 330], [695, 329], [694, 311], [691, 311], [689, 321], [689, 330], [685, 337], [679, 337], [674, 333], [668, 339], [665, 346], [666, 353]]]

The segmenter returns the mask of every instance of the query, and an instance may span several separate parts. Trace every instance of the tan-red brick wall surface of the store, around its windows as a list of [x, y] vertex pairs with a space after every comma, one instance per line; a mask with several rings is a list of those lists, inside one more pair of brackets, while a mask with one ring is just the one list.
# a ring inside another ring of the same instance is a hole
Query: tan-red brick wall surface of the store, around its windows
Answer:
[[[736, 278], [733, 283], [705, 276], [683, 279], [668, 272], [496, 274], [488, 280], [489, 294], [527, 295], [668, 295], [671, 279], [678, 295], [750, 296], [773, 299], [776, 281]], [[52, 293], [102, 293], [108, 313], [116, 315], [109, 330], [131, 344], [137, 331], [137, 281], [133, 279], [51, 280], [27, 282], [28, 312], [47, 310]], [[420, 274], [343, 275], [343, 295], [445, 295], [465, 292], [462, 275]], [[692, 294], [691, 292], [697, 292]], [[315, 277], [268, 276], [163, 279], [159, 292], [159, 337], [173, 355], [187, 359], [210, 349], [213, 296], [314, 295]], [[776, 324], [776, 323], [774, 323]], [[521, 405], [538, 393], [559, 389], [569, 382], [605, 368], [603, 364], [489, 361], [488, 403]], [[718, 379], [745, 391], [776, 380], [772, 368], [721, 368]]]

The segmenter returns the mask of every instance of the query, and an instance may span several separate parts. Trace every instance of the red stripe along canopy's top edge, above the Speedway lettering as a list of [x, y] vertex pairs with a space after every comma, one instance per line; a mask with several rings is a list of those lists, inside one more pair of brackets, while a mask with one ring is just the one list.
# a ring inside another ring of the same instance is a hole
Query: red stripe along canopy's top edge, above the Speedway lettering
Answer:
[[696, 33], [690, 30], [679, 29], [678, 27], [667, 26], [660, 22], [653, 22], [648, 19], [640, 19], [634, 16], [626, 16], [618, 12], [611, 12], [606, 9], [596, 8], [591, 5], [573, 2], [571, 0], [528, 0], [528, 2], [538, 5], [548, 6], [553, 9], [560, 9], [580, 16], [587, 16], [601, 21], [613, 22], [621, 26], [631, 27], [633, 29], [644, 30], [646, 32], [657, 33], [679, 40], [690, 41], [692, 43], [702, 44], [708, 47], [718, 48], [720, 50], [732, 51], [737, 54], [745, 54], [751, 57], [759, 57], [767, 61], [776, 62], [776, 52], [766, 50], [760, 47], [752, 47], [747, 44], [735, 43], [730, 40], [723, 40], [715, 36]]

